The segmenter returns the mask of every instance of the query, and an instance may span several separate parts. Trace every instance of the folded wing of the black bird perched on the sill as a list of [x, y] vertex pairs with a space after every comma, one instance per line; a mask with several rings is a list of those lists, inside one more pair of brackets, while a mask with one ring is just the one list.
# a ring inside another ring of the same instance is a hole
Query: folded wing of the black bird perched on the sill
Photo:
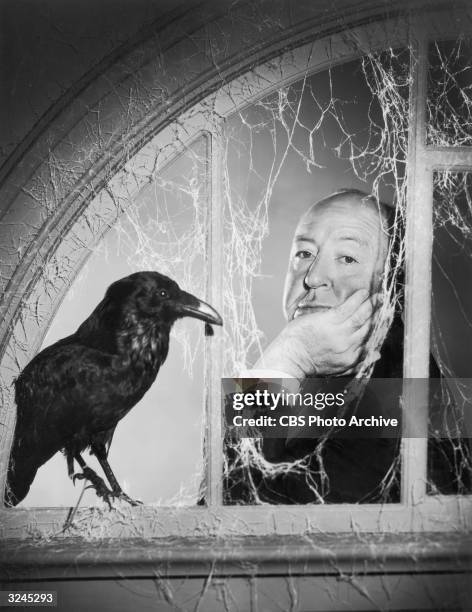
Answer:
[[25, 497], [38, 468], [58, 450], [71, 440], [84, 448], [91, 433], [116, 426], [124, 410], [113, 355], [70, 338], [36, 355], [15, 382], [17, 420], [6, 496], [12, 504]]

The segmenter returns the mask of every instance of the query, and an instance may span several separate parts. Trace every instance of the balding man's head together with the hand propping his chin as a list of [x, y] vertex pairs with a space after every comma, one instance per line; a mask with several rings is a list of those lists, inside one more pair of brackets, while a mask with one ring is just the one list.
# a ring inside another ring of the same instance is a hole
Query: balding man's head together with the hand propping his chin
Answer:
[[354, 373], [379, 303], [390, 217], [386, 205], [354, 189], [309, 208], [295, 230], [285, 279], [288, 324], [256, 370], [298, 379]]

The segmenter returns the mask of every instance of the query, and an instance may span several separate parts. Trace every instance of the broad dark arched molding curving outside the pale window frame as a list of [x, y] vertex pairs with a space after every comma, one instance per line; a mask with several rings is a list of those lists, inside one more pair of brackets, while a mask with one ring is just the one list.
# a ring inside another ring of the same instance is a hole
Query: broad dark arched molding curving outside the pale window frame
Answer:
[[[404, 1], [395, 10], [423, 4]], [[429, 2], [427, 8], [439, 4]], [[243, 2], [223, 13], [220, 5], [218, 13], [203, 3], [200, 13], [172, 21], [103, 73], [92, 71], [88, 85], [84, 78], [69, 104], [60, 101], [49, 113], [50, 123], [38, 125], [36, 140], [29, 138], [0, 189], [0, 354], [45, 257], [40, 248], [45, 237], [57, 233], [61, 217], [92, 199], [154, 134], [251, 66], [306, 40], [382, 22], [386, 10], [385, 2], [343, 0], [329, 7], [291, 2], [285, 8]]]

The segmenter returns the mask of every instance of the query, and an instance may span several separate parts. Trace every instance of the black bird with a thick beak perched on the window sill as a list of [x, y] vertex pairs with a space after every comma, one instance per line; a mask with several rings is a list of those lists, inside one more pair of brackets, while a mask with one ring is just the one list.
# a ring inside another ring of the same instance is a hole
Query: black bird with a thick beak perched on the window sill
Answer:
[[[15, 381], [17, 420], [5, 503], [18, 504], [36, 472], [57, 451], [71, 478], [87, 479], [110, 505], [121, 489], [107, 461], [116, 425], [154, 382], [169, 349], [169, 333], [181, 317], [222, 325], [209, 304], [157, 272], [116, 281], [77, 331], [38, 353]], [[89, 448], [108, 479], [87, 466]], [[74, 460], [82, 472], [74, 474]]]

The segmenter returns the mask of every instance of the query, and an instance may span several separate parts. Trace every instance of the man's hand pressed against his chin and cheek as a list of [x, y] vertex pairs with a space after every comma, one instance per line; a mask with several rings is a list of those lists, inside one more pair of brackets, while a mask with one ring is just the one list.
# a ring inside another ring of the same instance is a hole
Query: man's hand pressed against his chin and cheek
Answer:
[[295, 378], [350, 373], [362, 357], [373, 324], [375, 298], [360, 289], [330, 310], [290, 321], [254, 366]]

